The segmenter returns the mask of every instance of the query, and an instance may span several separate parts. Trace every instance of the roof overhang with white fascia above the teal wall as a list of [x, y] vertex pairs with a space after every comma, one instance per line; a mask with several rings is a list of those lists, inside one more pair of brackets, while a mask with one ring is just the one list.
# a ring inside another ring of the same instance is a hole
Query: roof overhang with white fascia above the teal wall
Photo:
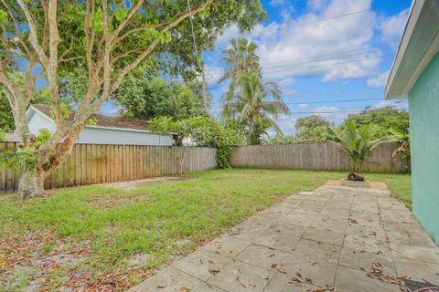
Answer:
[[439, 51], [439, 0], [414, 0], [386, 85], [386, 99], [405, 98]]

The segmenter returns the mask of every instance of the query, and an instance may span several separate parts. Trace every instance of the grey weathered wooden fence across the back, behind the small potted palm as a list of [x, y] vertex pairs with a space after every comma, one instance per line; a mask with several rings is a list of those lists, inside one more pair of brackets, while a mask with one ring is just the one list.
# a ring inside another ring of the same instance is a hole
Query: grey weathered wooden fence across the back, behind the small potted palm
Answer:
[[[378, 146], [365, 162], [364, 172], [408, 172], [408, 162], [392, 157], [398, 143]], [[232, 167], [350, 171], [352, 164], [346, 151], [337, 143], [300, 143], [292, 145], [258, 145], [235, 148]]]

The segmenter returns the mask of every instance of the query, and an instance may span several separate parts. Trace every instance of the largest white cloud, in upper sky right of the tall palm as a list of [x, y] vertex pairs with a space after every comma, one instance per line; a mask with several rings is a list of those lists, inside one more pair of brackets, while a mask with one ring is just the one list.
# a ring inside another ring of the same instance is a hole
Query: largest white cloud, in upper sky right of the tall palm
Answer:
[[[370, 2], [311, 1], [308, 6], [312, 10], [305, 15], [256, 26], [248, 37], [259, 46], [265, 78], [285, 80], [283, 85], [287, 86], [301, 76], [323, 75], [325, 81], [369, 77], [377, 70], [381, 56], [380, 50], [370, 45], [375, 13], [325, 19], [369, 9]], [[238, 29], [231, 28], [219, 38], [218, 46], [236, 36]]]

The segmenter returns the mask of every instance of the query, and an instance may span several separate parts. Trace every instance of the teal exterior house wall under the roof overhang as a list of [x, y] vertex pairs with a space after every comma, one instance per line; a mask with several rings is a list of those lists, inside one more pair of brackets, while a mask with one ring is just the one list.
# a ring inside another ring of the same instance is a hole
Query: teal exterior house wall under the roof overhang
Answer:
[[439, 53], [409, 93], [413, 213], [439, 244]]

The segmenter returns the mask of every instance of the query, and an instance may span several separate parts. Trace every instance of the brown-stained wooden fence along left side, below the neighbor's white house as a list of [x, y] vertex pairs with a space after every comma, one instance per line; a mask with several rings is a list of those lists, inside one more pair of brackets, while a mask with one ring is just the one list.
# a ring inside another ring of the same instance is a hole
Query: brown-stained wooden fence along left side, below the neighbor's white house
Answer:
[[[0, 151], [15, 151], [13, 142], [0, 142]], [[69, 159], [48, 176], [45, 187], [122, 182], [217, 167], [216, 149], [133, 145], [76, 144]], [[0, 191], [14, 192], [18, 175], [0, 172]]]

